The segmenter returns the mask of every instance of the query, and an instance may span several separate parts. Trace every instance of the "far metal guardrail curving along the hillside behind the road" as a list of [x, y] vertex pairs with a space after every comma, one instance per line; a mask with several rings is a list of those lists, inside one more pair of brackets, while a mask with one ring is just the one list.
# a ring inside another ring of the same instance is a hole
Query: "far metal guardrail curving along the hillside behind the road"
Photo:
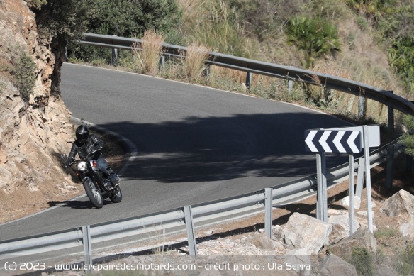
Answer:
[[[79, 40], [78, 43], [97, 47], [131, 50], [134, 48], [134, 45], [142, 43], [142, 40], [136, 38], [121, 38], [114, 35], [84, 33], [84, 38]], [[164, 51], [164, 56], [184, 57], [187, 48], [164, 43], [162, 45], [162, 50]], [[206, 60], [206, 64], [227, 67], [248, 73], [262, 74], [269, 77], [288, 79], [295, 82], [305, 82], [306, 84], [317, 86], [320, 86], [318, 83], [321, 83], [327, 89], [334, 89], [340, 92], [353, 94], [354, 96], [362, 96], [367, 99], [379, 101], [381, 104], [385, 104], [390, 108], [397, 109], [405, 114], [414, 115], [414, 104], [401, 96], [393, 94], [393, 92], [372, 87], [368, 84], [363, 84], [362, 82], [354, 82], [342, 77], [334, 77], [330, 74], [302, 70], [291, 66], [276, 65], [269, 62], [260, 62], [215, 52], [210, 53], [208, 60]], [[318, 79], [319, 82], [316, 82], [315, 79]]]

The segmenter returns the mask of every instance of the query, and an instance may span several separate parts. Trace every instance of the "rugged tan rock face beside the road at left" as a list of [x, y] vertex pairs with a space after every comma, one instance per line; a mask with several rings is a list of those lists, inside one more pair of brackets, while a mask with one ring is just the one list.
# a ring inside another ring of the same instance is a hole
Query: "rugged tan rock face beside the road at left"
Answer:
[[23, 101], [11, 74], [0, 72], [0, 201], [7, 210], [17, 201], [45, 201], [50, 189], [71, 182], [57, 155], [68, 151], [73, 126], [60, 96], [50, 95], [55, 57], [50, 41], [39, 43], [35, 16], [25, 1], [0, 1], [0, 33], [0, 67], [11, 68], [18, 50], [31, 57], [36, 76], [33, 93]]

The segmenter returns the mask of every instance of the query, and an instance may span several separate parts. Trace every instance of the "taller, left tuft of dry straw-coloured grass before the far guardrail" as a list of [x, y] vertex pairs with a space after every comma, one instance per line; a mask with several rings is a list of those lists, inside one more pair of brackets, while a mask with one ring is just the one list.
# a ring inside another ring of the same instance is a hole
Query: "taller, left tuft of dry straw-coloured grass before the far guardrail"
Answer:
[[138, 72], [155, 76], [159, 70], [164, 38], [153, 30], [147, 30], [142, 43], [133, 43], [135, 66]]

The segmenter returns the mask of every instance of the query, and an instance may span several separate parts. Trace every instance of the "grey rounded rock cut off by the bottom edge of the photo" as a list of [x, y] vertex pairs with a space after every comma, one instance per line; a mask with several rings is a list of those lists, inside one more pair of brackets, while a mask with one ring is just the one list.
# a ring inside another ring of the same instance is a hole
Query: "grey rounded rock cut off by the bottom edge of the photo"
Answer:
[[335, 255], [329, 255], [319, 267], [320, 276], [357, 276], [357, 270], [350, 263]]

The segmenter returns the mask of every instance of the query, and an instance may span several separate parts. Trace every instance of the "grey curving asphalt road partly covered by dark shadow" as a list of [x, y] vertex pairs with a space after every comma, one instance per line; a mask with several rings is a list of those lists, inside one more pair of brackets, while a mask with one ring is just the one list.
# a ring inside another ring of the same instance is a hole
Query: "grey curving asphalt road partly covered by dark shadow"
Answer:
[[[309, 128], [349, 126], [300, 106], [140, 74], [62, 68], [72, 116], [125, 136], [138, 158], [121, 175], [123, 201], [86, 197], [0, 225], [0, 240], [174, 209], [254, 192], [316, 171]], [[328, 155], [327, 166], [347, 162]]]

